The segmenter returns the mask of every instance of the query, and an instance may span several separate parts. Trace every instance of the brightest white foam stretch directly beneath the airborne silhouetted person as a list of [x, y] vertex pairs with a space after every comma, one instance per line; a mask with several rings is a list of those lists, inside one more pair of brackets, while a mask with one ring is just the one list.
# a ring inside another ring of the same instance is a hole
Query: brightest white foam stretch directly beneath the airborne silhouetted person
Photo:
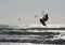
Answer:
[[22, 28], [62, 28], [65, 27], [64, 25], [51, 25], [48, 24], [47, 26], [42, 26], [41, 24], [29, 24], [22, 26]]

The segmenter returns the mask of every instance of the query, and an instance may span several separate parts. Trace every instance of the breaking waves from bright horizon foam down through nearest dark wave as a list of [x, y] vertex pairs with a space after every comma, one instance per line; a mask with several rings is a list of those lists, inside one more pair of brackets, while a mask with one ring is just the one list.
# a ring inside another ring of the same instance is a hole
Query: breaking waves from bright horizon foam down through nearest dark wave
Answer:
[[65, 26], [63, 25], [0, 25], [0, 42], [65, 44]]

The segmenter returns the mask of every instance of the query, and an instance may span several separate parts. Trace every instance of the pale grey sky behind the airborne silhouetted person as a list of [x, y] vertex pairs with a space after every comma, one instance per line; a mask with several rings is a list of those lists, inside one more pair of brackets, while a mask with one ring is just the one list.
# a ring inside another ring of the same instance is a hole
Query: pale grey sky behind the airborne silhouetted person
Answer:
[[40, 24], [35, 15], [42, 11], [49, 14], [47, 24], [65, 25], [65, 0], [0, 0], [0, 24]]

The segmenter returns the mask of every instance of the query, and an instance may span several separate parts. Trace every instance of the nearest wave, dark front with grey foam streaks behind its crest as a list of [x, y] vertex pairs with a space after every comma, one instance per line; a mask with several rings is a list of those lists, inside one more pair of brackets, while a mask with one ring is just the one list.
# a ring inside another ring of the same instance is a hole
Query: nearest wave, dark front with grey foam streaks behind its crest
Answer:
[[4, 38], [0, 36], [0, 42], [13, 42], [13, 43], [36, 43], [36, 44], [65, 44], [65, 40], [55, 39], [57, 36], [53, 35], [38, 35], [38, 36], [17, 36], [17, 35], [4, 35]]

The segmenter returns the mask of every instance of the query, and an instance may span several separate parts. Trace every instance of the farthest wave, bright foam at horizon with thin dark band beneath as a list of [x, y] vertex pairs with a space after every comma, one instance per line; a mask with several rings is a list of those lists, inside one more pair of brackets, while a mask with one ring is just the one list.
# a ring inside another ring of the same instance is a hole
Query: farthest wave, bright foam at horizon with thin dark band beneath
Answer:
[[35, 25], [29, 24], [25, 26], [11, 26], [11, 25], [0, 25], [0, 30], [65, 30], [64, 25]]

